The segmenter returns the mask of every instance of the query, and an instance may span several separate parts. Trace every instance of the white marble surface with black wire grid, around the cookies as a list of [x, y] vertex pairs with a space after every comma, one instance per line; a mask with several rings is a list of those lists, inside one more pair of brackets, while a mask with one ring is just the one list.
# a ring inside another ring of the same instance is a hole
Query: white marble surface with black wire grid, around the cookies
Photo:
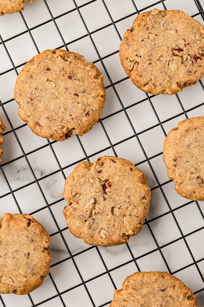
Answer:
[[[0, 115], [7, 126], [0, 174], [1, 213], [30, 213], [51, 236], [51, 269], [30, 295], [3, 294], [6, 306], [109, 306], [114, 289], [139, 270], [167, 271], [180, 278], [204, 306], [204, 204], [174, 191], [162, 161], [169, 130], [204, 113], [202, 78], [178, 95], [138, 90], [119, 59], [123, 33], [141, 11], [184, 10], [204, 23], [198, 0], [34, 0], [0, 18]], [[15, 26], [14, 26], [15, 25]], [[106, 104], [99, 122], [83, 137], [64, 142], [37, 137], [17, 115], [13, 88], [18, 72], [44, 49], [81, 53], [104, 75]], [[12, 144], [12, 146], [11, 146]], [[76, 164], [115, 155], [147, 176], [150, 211], [141, 232], [126, 245], [94, 247], [73, 237], [61, 213], [65, 178]], [[189, 222], [192, 221], [193, 223]]]

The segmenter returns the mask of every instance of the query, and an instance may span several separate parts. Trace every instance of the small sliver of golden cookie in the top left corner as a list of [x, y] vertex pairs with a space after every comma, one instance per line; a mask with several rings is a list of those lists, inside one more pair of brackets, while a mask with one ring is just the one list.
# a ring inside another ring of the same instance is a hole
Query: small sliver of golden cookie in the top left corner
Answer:
[[24, 3], [27, 1], [33, 2], [33, 0], [0, 0], [0, 16], [24, 10]]

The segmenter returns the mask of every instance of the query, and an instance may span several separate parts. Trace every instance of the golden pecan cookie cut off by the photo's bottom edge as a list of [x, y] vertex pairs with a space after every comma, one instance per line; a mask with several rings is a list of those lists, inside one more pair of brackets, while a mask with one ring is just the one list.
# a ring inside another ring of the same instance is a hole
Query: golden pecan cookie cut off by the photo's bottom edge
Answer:
[[136, 272], [121, 290], [115, 290], [110, 307], [198, 307], [194, 294], [167, 272]]

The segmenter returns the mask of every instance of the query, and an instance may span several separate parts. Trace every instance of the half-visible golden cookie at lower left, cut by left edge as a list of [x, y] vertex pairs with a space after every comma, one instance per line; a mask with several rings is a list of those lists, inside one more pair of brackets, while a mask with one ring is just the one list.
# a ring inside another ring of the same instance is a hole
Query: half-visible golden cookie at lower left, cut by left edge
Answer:
[[50, 236], [29, 214], [3, 213], [0, 220], [0, 293], [28, 294], [50, 270]]

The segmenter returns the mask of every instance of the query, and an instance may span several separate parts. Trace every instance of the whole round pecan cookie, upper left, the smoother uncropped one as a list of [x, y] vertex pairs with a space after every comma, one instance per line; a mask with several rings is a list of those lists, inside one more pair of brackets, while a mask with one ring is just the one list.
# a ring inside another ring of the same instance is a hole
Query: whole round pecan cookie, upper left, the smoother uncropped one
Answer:
[[35, 134], [63, 141], [98, 122], [105, 101], [103, 75], [78, 53], [45, 50], [19, 73], [14, 98], [18, 115]]

